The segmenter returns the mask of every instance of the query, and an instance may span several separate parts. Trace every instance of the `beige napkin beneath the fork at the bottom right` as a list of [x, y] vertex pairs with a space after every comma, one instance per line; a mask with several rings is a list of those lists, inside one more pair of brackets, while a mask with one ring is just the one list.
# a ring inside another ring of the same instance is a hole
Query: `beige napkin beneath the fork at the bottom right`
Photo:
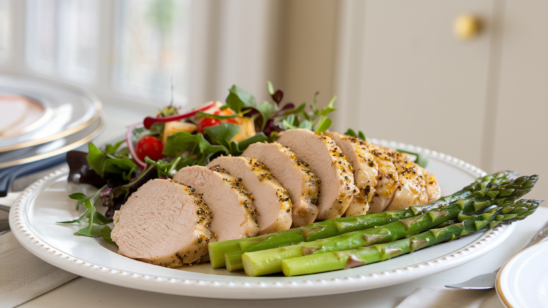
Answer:
[[504, 308], [495, 289], [419, 287], [396, 308]]

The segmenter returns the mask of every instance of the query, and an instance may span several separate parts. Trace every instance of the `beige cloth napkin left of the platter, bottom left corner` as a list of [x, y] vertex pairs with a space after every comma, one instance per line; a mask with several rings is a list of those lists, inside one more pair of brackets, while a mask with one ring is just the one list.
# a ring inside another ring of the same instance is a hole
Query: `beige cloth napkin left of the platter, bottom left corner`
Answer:
[[19, 244], [11, 232], [0, 235], [0, 308], [12, 308], [75, 279]]

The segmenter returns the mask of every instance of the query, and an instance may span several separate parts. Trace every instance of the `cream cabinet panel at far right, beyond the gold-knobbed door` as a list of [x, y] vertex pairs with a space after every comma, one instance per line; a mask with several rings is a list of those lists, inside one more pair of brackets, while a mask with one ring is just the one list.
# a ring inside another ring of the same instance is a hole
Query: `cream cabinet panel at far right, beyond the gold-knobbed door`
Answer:
[[[548, 2], [508, 1], [494, 88], [495, 139], [486, 169], [538, 174], [528, 198], [548, 199]], [[547, 206], [548, 204], [544, 204]]]

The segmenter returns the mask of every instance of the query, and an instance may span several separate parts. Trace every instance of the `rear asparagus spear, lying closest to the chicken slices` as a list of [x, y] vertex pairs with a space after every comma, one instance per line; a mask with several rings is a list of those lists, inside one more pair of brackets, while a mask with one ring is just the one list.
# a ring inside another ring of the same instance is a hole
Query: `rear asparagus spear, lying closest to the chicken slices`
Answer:
[[408, 209], [356, 217], [341, 217], [336, 220], [326, 220], [325, 222], [317, 222], [301, 228], [261, 235], [259, 237], [210, 243], [208, 244], [208, 248], [211, 266], [212, 268], [226, 266], [228, 270], [241, 270], [243, 268], [242, 254], [244, 252], [277, 248], [293, 243], [300, 243], [301, 241], [314, 241], [316, 239], [333, 237], [351, 231], [372, 228], [373, 226], [382, 226], [390, 222], [397, 222], [398, 220], [412, 217], [419, 213], [425, 213], [436, 206], [449, 204], [459, 198], [470, 196], [474, 191], [499, 185], [501, 182], [512, 179], [515, 176], [516, 173], [513, 171], [500, 171], [495, 174], [490, 174], [478, 178], [470, 185], [450, 196], [440, 198], [440, 200], [429, 204], [411, 206]]

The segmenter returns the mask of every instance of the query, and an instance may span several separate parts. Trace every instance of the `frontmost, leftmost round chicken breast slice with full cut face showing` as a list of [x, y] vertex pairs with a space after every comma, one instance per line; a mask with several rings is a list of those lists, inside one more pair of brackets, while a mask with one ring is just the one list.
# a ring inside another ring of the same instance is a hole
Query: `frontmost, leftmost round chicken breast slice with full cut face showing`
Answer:
[[173, 180], [146, 182], [116, 212], [116, 220], [110, 236], [125, 257], [174, 268], [208, 254], [208, 205]]

